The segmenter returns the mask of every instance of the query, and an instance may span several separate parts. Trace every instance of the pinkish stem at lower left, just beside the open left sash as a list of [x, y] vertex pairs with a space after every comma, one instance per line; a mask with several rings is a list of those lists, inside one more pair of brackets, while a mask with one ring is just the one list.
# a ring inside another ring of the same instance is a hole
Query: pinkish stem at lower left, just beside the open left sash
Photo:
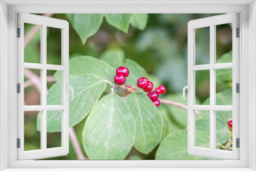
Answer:
[[76, 133], [75, 133], [75, 130], [73, 127], [70, 127], [69, 129], [69, 138], [70, 138], [70, 141], [74, 147], [74, 151], [76, 153], [76, 156], [77, 156], [77, 160], [90, 160], [86, 157], [84, 157], [83, 153], [82, 153], [82, 149], [80, 147], [80, 144], [77, 140], [77, 137], [76, 137]]

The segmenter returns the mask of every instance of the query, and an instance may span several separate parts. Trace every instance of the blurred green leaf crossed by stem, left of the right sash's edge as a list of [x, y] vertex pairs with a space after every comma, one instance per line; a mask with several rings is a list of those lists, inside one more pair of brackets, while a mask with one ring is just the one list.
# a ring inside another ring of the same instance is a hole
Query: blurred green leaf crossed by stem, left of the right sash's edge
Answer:
[[[187, 100], [183, 99], [182, 93], [167, 95], [167, 96], [164, 96], [163, 98], [166, 100], [175, 101], [187, 106]], [[186, 99], [187, 99], [187, 95], [186, 95]], [[196, 101], [198, 104], [200, 103], [197, 98], [196, 98]], [[182, 127], [183, 129], [185, 129], [185, 127], [187, 126], [187, 110], [181, 109], [174, 105], [167, 105], [167, 104], [164, 104], [164, 107], [170, 113], [170, 116], [172, 117], [173, 121], [177, 125], [179, 125], [179, 127]], [[199, 118], [200, 117], [196, 115], [196, 119], [199, 119]]]

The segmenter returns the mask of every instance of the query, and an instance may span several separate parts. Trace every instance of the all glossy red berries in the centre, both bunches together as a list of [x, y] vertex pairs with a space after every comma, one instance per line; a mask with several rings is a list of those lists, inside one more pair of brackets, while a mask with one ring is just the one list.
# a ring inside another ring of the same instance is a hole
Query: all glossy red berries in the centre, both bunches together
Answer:
[[[114, 82], [118, 85], [123, 85], [126, 81], [125, 77], [129, 75], [129, 70], [126, 67], [118, 67], [116, 69], [116, 75], [114, 77]], [[165, 87], [159, 86], [155, 91], [153, 90], [153, 83], [148, 81], [146, 77], [141, 77], [137, 81], [137, 87], [143, 89], [147, 92], [147, 96], [153, 101], [156, 106], [160, 105], [158, 100], [159, 94], [165, 93]]]

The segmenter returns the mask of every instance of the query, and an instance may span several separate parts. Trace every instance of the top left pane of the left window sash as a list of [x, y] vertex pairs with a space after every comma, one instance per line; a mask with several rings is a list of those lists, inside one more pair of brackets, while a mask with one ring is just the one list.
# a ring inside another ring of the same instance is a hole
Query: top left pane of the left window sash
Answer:
[[[31, 29], [38, 29], [35, 35]], [[41, 63], [41, 26], [24, 23], [24, 62]]]

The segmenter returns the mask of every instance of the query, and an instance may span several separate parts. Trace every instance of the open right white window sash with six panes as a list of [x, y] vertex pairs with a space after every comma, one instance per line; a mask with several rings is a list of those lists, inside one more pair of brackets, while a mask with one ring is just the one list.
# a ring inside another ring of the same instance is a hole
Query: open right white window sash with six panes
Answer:
[[[232, 23], [232, 62], [216, 63], [216, 25]], [[195, 65], [195, 29], [210, 27], [210, 64]], [[236, 37], [239, 28], [239, 14], [230, 13], [191, 20], [188, 23], [188, 153], [190, 155], [212, 157], [217, 159], [239, 159], [239, 148], [236, 148], [236, 138], [239, 138], [239, 93], [236, 93], [236, 83], [239, 83], [239, 38]], [[232, 68], [232, 106], [216, 105], [216, 69]], [[210, 70], [210, 105], [195, 105], [195, 71]], [[195, 110], [210, 111], [210, 148], [195, 147]], [[216, 117], [215, 111], [232, 111], [232, 151], [215, 149]]]

